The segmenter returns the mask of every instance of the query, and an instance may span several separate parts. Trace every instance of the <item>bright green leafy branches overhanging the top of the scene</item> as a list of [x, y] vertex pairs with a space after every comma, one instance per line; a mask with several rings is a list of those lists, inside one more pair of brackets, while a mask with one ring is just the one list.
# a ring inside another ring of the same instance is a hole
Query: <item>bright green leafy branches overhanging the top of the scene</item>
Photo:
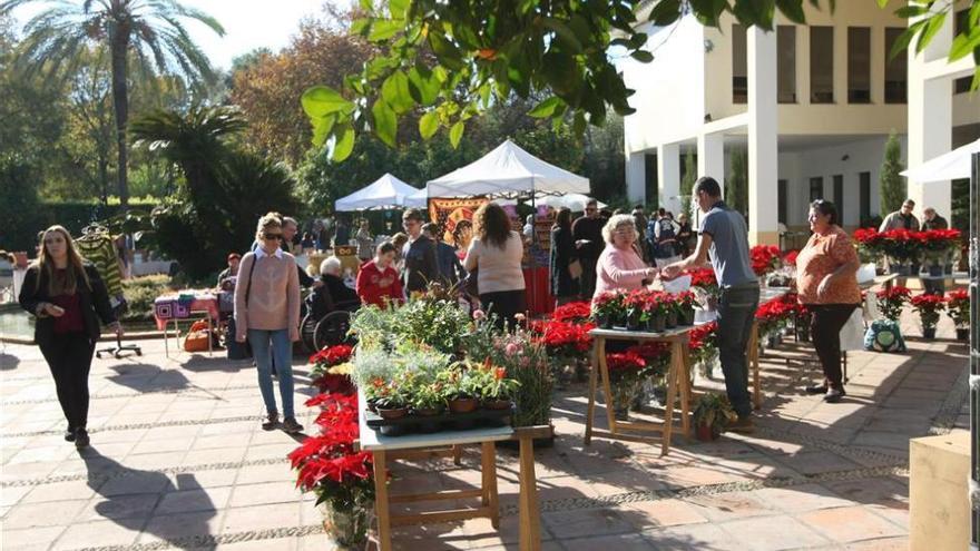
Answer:
[[[888, 0], [878, 0], [884, 8]], [[808, 3], [833, 10], [835, 0]], [[913, 37], [921, 50], [954, 2], [915, 1], [896, 10], [918, 18], [898, 50]], [[973, 53], [980, 59], [980, 8], [973, 2], [967, 28], [955, 37], [951, 59]], [[472, 118], [512, 94], [540, 97], [529, 112], [556, 125], [570, 121], [577, 135], [601, 126], [609, 110], [634, 112], [623, 75], [610, 48], [649, 62], [643, 23], [674, 24], [694, 13], [705, 26], [718, 27], [729, 12], [745, 27], [773, 30], [775, 13], [805, 23], [804, 0], [361, 0], [366, 17], [352, 31], [378, 46], [359, 73], [342, 87], [316, 86], [302, 98], [313, 127], [314, 144], [326, 144], [334, 160], [346, 158], [355, 135], [371, 131], [394, 146], [399, 119], [424, 110], [419, 134], [430, 138], [448, 130], [457, 146]]]

